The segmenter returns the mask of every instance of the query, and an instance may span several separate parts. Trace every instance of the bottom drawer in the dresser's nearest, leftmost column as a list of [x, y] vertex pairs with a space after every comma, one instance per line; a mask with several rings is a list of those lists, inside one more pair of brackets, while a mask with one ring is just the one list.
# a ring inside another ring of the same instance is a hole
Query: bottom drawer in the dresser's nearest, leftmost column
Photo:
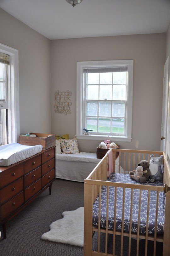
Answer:
[[11, 213], [13, 213], [17, 208], [19, 208], [24, 203], [24, 192], [22, 191], [17, 196], [13, 197], [8, 202], [1, 206], [1, 218], [7, 218]]

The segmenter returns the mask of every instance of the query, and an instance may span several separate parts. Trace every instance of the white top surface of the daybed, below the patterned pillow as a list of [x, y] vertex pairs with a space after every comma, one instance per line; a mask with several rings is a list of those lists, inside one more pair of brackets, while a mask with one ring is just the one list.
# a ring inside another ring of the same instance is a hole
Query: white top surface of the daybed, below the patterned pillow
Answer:
[[70, 161], [70, 162], [87, 162], [99, 163], [101, 159], [96, 158], [95, 153], [80, 152], [75, 154], [55, 154], [56, 160]]

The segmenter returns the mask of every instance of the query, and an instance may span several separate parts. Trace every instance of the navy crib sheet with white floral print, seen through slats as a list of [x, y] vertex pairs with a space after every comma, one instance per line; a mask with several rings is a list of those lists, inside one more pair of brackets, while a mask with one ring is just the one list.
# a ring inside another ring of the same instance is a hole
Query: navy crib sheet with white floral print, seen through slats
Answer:
[[[107, 181], [132, 183], [136, 184], [135, 180], [130, 179], [128, 174], [114, 174], [110, 175]], [[138, 183], [139, 184], [139, 183]], [[146, 185], [146, 183], [144, 183]], [[147, 182], [147, 185], [162, 186], [161, 182]], [[101, 211], [100, 211], [100, 226], [106, 228], [106, 197], [107, 188], [103, 186], [101, 189]], [[117, 188], [116, 199], [116, 230], [122, 230], [122, 203], [123, 203], [123, 188]], [[141, 211], [140, 211], [140, 228], [139, 233], [146, 233], [146, 216], [147, 216], [147, 200], [148, 191], [142, 190], [141, 194]], [[114, 201], [115, 201], [115, 187], [109, 187], [109, 204], [108, 204], [108, 229], [113, 230], [114, 222]], [[124, 232], [129, 232], [130, 224], [130, 202], [131, 189], [125, 189], [125, 211], [124, 211]], [[165, 194], [159, 192], [158, 204], [158, 219], [157, 219], [157, 233], [163, 233], [164, 226], [164, 212], [165, 212]], [[132, 210], [132, 233], [137, 233], [138, 228], [138, 211], [139, 211], [139, 189], [133, 189], [133, 210]], [[156, 214], [156, 191], [150, 191], [150, 207], [149, 207], [149, 222], [148, 233], [154, 234], [155, 231], [155, 214]], [[99, 196], [93, 204], [93, 225], [98, 226], [99, 219]]]

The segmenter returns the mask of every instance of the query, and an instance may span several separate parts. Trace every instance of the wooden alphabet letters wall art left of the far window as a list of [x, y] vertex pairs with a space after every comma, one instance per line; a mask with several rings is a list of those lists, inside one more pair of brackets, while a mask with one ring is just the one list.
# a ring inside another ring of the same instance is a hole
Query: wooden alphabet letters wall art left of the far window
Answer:
[[72, 92], [67, 90], [66, 92], [60, 92], [59, 90], [55, 92], [55, 104], [54, 104], [54, 111], [55, 113], [59, 114], [71, 114], [70, 106], [72, 105], [71, 102], [71, 95]]

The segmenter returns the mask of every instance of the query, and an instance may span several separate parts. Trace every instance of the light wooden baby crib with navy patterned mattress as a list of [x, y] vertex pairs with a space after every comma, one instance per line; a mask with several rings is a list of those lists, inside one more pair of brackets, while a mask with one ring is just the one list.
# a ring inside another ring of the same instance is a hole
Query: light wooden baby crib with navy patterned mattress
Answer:
[[[165, 153], [112, 149], [113, 167], [116, 151], [120, 152], [119, 166], [122, 164], [123, 174], [115, 174], [113, 168], [114, 172], [107, 178], [108, 155], [105, 155], [84, 180], [84, 255], [115, 255], [116, 235], [121, 236], [121, 256], [124, 255], [124, 236], [129, 237], [126, 248], [129, 256], [131, 238], [136, 239], [137, 256], [139, 239], [145, 240], [145, 256], [148, 240], [154, 242], [154, 256], [157, 255], [156, 242], [163, 242], [163, 256], [170, 255], [170, 168]], [[131, 180], [129, 171], [142, 159], [150, 160], [151, 154], [164, 155], [163, 183], [140, 184]], [[94, 232], [98, 232], [97, 251], [92, 250]], [[100, 251], [101, 232], [105, 233], [105, 253]], [[113, 234], [112, 254], [107, 252], [108, 234]]]

